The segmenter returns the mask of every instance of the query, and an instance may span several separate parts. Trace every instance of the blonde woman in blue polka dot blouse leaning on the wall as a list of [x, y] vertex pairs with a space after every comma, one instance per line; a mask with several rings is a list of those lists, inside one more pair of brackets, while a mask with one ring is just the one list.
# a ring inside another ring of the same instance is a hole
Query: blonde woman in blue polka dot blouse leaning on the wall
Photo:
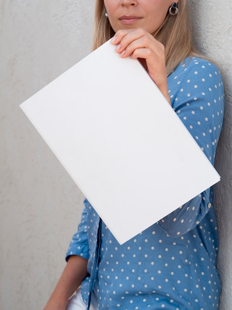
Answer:
[[[94, 48], [112, 38], [122, 58], [139, 58], [213, 163], [223, 81], [218, 68], [193, 49], [189, 21], [187, 0], [97, 0]], [[44, 310], [218, 309], [212, 204], [208, 189], [120, 246], [85, 200], [67, 266]]]

